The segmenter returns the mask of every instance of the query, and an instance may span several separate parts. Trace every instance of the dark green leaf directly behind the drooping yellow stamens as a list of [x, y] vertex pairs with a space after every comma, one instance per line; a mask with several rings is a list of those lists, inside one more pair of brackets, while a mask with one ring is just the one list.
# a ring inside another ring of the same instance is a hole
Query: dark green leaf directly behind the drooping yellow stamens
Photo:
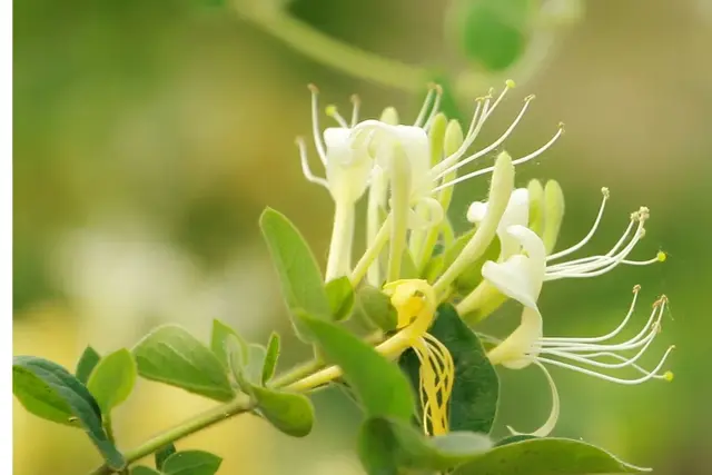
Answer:
[[[479, 338], [459, 318], [452, 305], [437, 309], [428, 330], [449, 350], [455, 363], [455, 379], [449, 400], [451, 431], [488, 434], [500, 398], [500, 379], [487, 359]], [[419, 362], [413, 352], [400, 357], [400, 365], [417, 387]]]

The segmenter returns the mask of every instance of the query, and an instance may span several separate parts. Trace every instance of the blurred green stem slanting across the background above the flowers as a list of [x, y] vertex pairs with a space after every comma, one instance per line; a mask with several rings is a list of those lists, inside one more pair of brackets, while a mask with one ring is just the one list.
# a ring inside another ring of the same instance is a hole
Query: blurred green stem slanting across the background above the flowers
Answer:
[[354, 48], [328, 37], [279, 10], [260, 11], [254, 6], [235, 6], [237, 13], [315, 61], [356, 78], [409, 92], [419, 92], [428, 81], [425, 68]]

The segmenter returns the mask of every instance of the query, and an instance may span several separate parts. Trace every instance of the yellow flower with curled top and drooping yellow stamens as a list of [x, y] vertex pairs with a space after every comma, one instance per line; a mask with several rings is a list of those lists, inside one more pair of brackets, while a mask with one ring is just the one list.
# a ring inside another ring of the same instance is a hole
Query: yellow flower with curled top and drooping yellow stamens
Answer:
[[455, 378], [455, 364], [447, 348], [427, 333], [437, 299], [425, 280], [407, 279], [389, 283], [384, 291], [398, 314], [398, 329], [406, 336], [421, 362], [419, 396], [423, 429], [429, 435], [448, 432], [447, 407]]

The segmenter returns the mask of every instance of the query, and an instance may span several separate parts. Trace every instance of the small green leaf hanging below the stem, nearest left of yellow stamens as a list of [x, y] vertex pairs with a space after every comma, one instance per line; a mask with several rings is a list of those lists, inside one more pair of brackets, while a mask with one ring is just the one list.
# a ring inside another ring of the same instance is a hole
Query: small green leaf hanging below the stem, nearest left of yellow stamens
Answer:
[[257, 408], [277, 429], [293, 437], [304, 437], [314, 425], [314, 406], [308, 397], [287, 392], [253, 387]]

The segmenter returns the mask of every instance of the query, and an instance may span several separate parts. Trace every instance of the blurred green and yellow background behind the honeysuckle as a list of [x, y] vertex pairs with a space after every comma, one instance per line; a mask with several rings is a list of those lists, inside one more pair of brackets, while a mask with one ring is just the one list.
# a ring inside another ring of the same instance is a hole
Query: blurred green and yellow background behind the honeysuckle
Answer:
[[[73, 367], [87, 343], [100, 352], [131, 346], [167, 321], [207, 337], [218, 317], [256, 340], [281, 331], [285, 365], [308, 357], [289, 336], [257, 228], [263, 208], [277, 208], [325, 257], [332, 204], [303, 179], [293, 144], [309, 133], [305, 85], [319, 85], [323, 98], [344, 109], [358, 92], [370, 117], [394, 105], [412, 118], [422, 96], [299, 53], [241, 18], [237, 11], [246, 6], [14, 2], [14, 354]], [[705, 474], [712, 466], [712, 2], [583, 7], [557, 31], [545, 60], [513, 77], [520, 86], [484, 135], [497, 137], [520, 99], [535, 92], [506, 148], [526, 154], [565, 121], [564, 139], [517, 169], [520, 185], [562, 184], [562, 246], [587, 231], [607, 186], [612, 200], [590, 250], [605, 250], [629, 212], [646, 205], [652, 218], [636, 256], [661, 248], [670, 255], [664, 265], [548, 284], [541, 305], [547, 334], [594, 335], [615, 326], [641, 284], [640, 318], [659, 295], [671, 299], [646, 363], [671, 343], [679, 349], [673, 384], [617, 386], [554, 368], [563, 404], [556, 434], [659, 474]], [[285, 8], [346, 43], [442, 77], [473, 68], [453, 47], [446, 2], [298, 0]], [[493, 75], [493, 86], [501, 76]], [[461, 111], [472, 109], [468, 95], [454, 100]], [[459, 226], [467, 202], [486, 186], [475, 180], [457, 190]], [[500, 315], [512, 325], [516, 307]], [[550, 396], [540, 374], [505, 370], [502, 384], [498, 435], [505, 424], [525, 431], [546, 417]], [[337, 393], [319, 394], [316, 403], [318, 423], [305, 439], [240, 417], [179, 447], [224, 456], [225, 474], [360, 474], [352, 449], [357, 410]], [[140, 382], [115, 416], [120, 445], [134, 446], [211, 404]], [[13, 407], [16, 474], [76, 474], [99, 462], [80, 431]]]

